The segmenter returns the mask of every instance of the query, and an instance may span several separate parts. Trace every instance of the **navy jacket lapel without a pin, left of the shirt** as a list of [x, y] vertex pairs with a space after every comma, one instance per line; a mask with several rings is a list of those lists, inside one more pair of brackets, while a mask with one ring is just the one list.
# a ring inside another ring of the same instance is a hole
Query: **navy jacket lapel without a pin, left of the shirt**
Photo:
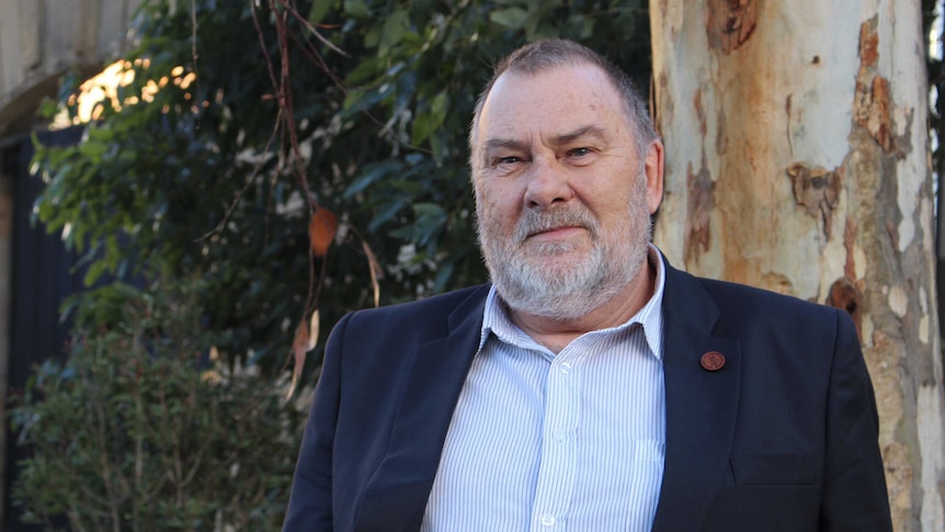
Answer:
[[420, 529], [453, 410], [479, 346], [488, 292], [488, 285], [476, 290], [446, 318], [446, 336], [413, 352], [387, 455], [365, 489], [354, 530]]

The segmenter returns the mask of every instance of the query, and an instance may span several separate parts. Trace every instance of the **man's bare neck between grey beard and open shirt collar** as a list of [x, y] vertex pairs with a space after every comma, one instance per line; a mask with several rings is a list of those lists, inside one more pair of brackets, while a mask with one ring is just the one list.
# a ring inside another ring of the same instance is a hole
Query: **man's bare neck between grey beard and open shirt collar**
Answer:
[[509, 316], [533, 340], [555, 354], [560, 353], [579, 336], [608, 329], [627, 322], [653, 296], [657, 270], [649, 260], [637, 275], [608, 302], [576, 319], [558, 320], [525, 312], [509, 309]]

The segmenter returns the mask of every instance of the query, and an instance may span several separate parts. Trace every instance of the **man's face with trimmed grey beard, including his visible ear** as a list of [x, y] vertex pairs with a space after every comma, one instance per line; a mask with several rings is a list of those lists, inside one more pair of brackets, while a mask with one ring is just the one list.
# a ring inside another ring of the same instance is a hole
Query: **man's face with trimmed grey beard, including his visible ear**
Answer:
[[662, 193], [661, 172], [648, 179], [661, 146], [637, 157], [620, 97], [600, 68], [503, 73], [472, 149], [482, 253], [512, 308], [574, 319], [640, 271]]

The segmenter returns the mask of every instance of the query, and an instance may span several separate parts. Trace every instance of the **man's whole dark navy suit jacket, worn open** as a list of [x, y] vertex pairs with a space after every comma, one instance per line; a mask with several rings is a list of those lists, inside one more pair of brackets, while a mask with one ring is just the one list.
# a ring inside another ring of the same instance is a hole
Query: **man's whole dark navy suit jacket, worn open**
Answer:
[[[652, 530], [891, 530], [873, 387], [850, 318], [667, 267], [665, 467]], [[335, 326], [284, 531], [420, 528], [488, 292], [356, 312]], [[725, 356], [721, 369], [703, 367], [708, 351]]]

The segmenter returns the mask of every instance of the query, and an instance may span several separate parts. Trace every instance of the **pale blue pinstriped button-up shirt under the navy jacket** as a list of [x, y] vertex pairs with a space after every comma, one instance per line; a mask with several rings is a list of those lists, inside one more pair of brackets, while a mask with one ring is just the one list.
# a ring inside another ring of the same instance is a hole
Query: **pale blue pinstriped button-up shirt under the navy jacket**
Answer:
[[644, 532], [665, 452], [662, 294], [626, 324], [555, 355], [509, 319], [494, 287], [422, 532]]

